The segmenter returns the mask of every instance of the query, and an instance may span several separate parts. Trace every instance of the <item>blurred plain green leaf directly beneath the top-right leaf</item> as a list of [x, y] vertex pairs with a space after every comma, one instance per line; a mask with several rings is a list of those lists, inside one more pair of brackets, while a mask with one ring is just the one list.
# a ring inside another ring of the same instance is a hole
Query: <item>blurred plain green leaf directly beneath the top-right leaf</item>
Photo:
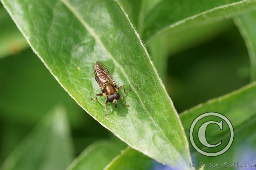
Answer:
[[[168, 58], [184, 49], [192, 48], [211, 40], [232, 26], [232, 20], [225, 20], [212, 24], [194, 26], [180, 32], [159, 34], [146, 42], [149, 54], [160, 78], [166, 83]], [[185, 63], [185, 62], [184, 62]], [[180, 64], [182, 65], [182, 64]]]

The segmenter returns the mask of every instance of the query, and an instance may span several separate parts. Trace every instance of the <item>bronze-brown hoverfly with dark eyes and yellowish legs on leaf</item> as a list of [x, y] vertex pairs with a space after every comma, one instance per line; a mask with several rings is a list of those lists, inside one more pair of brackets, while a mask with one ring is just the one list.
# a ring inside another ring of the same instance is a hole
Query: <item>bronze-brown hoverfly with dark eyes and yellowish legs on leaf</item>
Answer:
[[[113, 102], [116, 108], [117, 108], [116, 103], [119, 98], [122, 98], [123, 103], [124, 103], [124, 98], [122, 96], [120, 96], [118, 93], [118, 90], [121, 89], [122, 87], [124, 89], [124, 86], [121, 85], [120, 87], [116, 87], [116, 83], [115, 83], [114, 79], [109, 74], [107, 67], [103, 63], [96, 61], [94, 63], [93, 69], [94, 69], [94, 74], [95, 74], [95, 80], [98, 83], [98, 85], [100, 86], [102, 93], [95, 94], [95, 99], [91, 98], [91, 100], [98, 101], [97, 96], [106, 96], [107, 100], [105, 101], [105, 107], [107, 109], [107, 113], [105, 116], [107, 116], [108, 115], [108, 107], [107, 107], [108, 102], [110, 102], [110, 103]], [[124, 89], [125, 93], [130, 92], [130, 91], [131, 91], [131, 89], [128, 91], [125, 91], [125, 89]], [[127, 104], [125, 104], [125, 106], [130, 107]]]

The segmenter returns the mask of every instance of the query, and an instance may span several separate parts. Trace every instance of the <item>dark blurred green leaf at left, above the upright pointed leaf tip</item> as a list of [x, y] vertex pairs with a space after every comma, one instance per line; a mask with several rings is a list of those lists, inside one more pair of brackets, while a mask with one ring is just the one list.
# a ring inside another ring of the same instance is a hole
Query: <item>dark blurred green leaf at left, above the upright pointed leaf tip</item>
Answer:
[[[88, 123], [85, 112], [60, 87], [31, 49], [0, 60], [0, 118], [31, 128], [55, 105], [67, 108], [73, 128]], [[83, 119], [82, 119], [83, 118]]]

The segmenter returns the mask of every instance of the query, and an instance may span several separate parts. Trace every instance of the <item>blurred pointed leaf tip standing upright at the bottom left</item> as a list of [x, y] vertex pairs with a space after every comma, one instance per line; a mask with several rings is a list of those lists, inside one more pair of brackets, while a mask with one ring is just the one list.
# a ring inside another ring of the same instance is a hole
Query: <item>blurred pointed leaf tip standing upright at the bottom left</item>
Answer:
[[5, 160], [1, 170], [63, 170], [73, 159], [65, 109], [56, 107]]

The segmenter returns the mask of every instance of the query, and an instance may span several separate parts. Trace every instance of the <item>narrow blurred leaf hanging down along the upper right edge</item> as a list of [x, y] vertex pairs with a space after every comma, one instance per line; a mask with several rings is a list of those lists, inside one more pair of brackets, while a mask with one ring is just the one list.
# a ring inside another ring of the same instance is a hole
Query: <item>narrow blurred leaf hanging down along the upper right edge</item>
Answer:
[[256, 11], [234, 18], [247, 46], [251, 62], [251, 81], [256, 80]]

